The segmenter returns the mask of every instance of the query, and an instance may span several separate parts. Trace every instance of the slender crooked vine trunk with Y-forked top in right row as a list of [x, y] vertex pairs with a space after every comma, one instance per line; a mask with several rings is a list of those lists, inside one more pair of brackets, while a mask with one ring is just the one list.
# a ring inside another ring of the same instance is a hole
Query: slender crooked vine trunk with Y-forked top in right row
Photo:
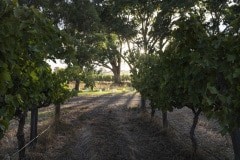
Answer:
[[201, 113], [201, 108], [199, 108], [197, 110], [197, 112], [195, 111], [195, 109], [192, 107], [191, 108], [193, 113], [194, 113], [194, 117], [193, 117], [193, 124], [192, 124], [192, 127], [190, 129], [190, 138], [191, 138], [191, 141], [192, 141], [192, 147], [193, 147], [193, 154], [194, 156], [196, 155], [197, 153], [197, 147], [198, 147], [198, 144], [197, 144], [197, 139], [195, 137], [195, 129], [197, 127], [197, 123], [198, 123], [198, 118], [199, 118], [199, 114]]

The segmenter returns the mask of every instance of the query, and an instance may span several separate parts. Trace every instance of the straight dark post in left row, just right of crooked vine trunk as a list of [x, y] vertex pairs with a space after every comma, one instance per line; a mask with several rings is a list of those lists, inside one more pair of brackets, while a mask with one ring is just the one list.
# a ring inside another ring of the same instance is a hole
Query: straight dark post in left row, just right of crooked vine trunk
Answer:
[[[30, 128], [30, 141], [37, 137], [37, 123], [38, 123], [38, 108], [33, 105], [31, 108], [31, 128]], [[31, 143], [31, 148], [35, 149], [37, 138]]]

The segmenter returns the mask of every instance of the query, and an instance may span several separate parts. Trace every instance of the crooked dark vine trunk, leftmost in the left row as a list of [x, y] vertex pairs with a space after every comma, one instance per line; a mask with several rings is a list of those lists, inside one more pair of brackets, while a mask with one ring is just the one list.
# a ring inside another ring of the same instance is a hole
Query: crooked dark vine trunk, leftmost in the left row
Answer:
[[[24, 160], [26, 158], [25, 155], [25, 137], [24, 137], [24, 125], [25, 125], [25, 119], [27, 116], [27, 111], [23, 112], [20, 116], [19, 116], [19, 124], [18, 124], [18, 131], [17, 131], [17, 139], [18, 139], [18, 149], [21, 151], [19, 151], [19, 160]], [[23, 149], [22, 149], [23, 148]]]

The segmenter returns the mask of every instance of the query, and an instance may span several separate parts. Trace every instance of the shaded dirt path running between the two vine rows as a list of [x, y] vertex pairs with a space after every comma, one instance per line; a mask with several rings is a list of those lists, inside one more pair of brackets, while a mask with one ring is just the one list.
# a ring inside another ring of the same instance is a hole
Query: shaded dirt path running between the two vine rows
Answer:
[[91, 109], [85, 112], [76, 141], [55, 159], [186, 159], [179, 155], [176, 146], [169, 143], [169, 137], [160, 127], [131, 109], [139, 105], [138, 94], [103, 97], [78, 100], [84, 104], [91, 101]]

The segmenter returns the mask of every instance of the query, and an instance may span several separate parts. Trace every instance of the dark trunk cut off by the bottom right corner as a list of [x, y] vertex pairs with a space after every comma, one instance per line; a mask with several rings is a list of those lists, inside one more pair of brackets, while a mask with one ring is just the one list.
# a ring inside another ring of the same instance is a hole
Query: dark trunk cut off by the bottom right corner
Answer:
[[240, 128], [231, 134], [235, 160], [240, 160]]

